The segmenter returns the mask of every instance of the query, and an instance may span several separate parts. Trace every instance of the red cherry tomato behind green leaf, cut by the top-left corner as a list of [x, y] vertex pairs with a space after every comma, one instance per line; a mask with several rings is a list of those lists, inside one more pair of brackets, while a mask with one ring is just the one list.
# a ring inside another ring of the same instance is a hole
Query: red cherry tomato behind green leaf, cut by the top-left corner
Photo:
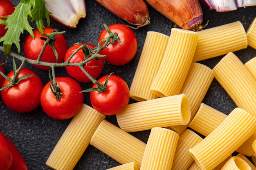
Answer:
[[[11, 15], [14, 11], [14, 5], [9, 0], [1, 0], [0, 2], [0, 17]], [[1, 18], [0, 20], [6, 19]], [[0, 25], [0, 37], [4, 36], [6, 32], [7, 29], [5, 29], [5, 25]]]

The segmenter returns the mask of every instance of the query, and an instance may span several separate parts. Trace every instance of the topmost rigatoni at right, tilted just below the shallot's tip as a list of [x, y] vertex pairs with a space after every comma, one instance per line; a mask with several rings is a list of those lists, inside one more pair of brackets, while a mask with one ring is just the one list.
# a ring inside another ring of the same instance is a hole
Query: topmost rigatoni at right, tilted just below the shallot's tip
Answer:
[[247, 48], [247, 36], [240, 21], [198, 31], [193, 62]]

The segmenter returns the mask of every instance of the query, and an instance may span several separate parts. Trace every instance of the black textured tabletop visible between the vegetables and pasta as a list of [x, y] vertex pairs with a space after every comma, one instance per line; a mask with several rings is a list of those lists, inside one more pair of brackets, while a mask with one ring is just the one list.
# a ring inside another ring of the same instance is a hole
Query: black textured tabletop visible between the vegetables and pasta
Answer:
[[[19, 1], [11, 0], [11, 2], [17, 5]], [[202, 2], [200, 3], [204, 13], [203, 24], [206, 24], [207, 20], [209, 20], [206, 29], [239, 20], [243, 23], [245, 30], [247, 30], [253, 19], [256, 17], [256, 7], [239, 8], [236, 11], [217, 13], [216, 11], [208, 10]], [[85, 19], [79, 21], [76, 29], [66, 28], [51, 19], [51, 27], [60, 31], [66, 31], [64, 35], [67, 39], [68, 46], [71, 46], [76, 42], [87, 42], [96, 45], [98, 36], [103, 30], [103, 23], [106, 23], [107, 25], [114, 23], [126, 24], [124, 20], [121, 20], [110, 13], [94, 0], [87, 0], [86, 6], [87, 16]], [[138, 41], [138, 50], [135, 58], [124, 66], [112, 66], [105, 62], [102, 75], [115, 72], [116, 75], [124, 78], [130, 87], [147, 31], [158, 31], [170, 35], [170, 30], [175, 24], [149, 5], [148, 10], [150, 13], [151, 24], [140, 28], [139, 30], [134, 30]], [[31, 22], [31, 25], [35, 26], [34, 22]], [[28, 33], [25, 31], [20, 37], [22, 48], [20, 55], [23, 56], [23, 45], [27, 35]], [[16, 52], [15, 46], [13, 46], [12, 51]], [[256, 50], [248, 47], [247, 49], [235, 52], [235, 54], [243, 63], [245, 63], [256, 56]], [[200, 63], [213, 68], [222, 57], [223, 56], [215, 57], [201, 61]], [[0, 52], [0, 60], [6, 60], [3, 52]], [[155, 60], [157, 60], [157, 54]], [[9, 64], [5, 66], [6, 73], [9, 73], [12, 69], [11, 59], [8, 61]], [[25, 65], [25, 67], [38, 73], [44, 84], [49, 81], [47, 71], [40, 71], [28, 64]], [[65, 68], [57, 69], [56, 74], [57, 76], [67, 75]], [[92, 84], [81, 84], [83, 89], [88, 88], [91, 85]], [[88, 94], [85, 93], [84, 97], [85, 104], [90, 105]], [[130, 103], [132, 102], [135, 101], [131, 99]], [[203, 102], [225, 114], [229, 114], [231, 110], [236, 107], [229, 95], [227, 95], [225, 90], [215, 79], [213, 79]], [[16, 145], [18, 150], [20, 150], [27, 162], [29, 170], [50, 170], [51, 168], [47, 167], [45, 162], [71, 119], [62, 121], [52, 119], [43, 112], [40, 106], [30, 113], [15, 113], [7, 108], [1, 99], [0, 107], [0, 131]], [[117, 125], [115, 116], [106, 117], [106, 119]], [[131, 134], [146, 142], [149, 132], [149, 130], [146, 130], [143, 132], [133, 132]], [[74, 170], [105, 170], [117, 165], [119, 165], [118, 162], [89, 145]]]

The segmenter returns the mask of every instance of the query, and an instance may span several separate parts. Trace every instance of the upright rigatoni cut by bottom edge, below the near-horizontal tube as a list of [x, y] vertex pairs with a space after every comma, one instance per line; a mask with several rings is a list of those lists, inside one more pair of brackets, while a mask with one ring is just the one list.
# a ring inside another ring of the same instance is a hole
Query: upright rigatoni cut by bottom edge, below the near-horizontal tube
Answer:
[[171, 170], [179, 135], [166, 128], [152, 128], [140, 170]]

